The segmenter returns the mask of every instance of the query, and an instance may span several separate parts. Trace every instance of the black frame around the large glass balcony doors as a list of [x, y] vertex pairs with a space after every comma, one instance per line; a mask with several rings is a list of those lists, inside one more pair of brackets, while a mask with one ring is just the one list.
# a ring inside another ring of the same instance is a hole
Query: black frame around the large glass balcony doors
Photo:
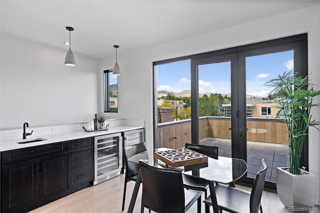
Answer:
[[[226, 47], [223, 49], [218, 49], [214, 51], [208, 51], [203, 53], [197, 53], [192, 55], [186, 55], [182, 57], [176, 57], [176, 58], [170, 58], [160, 61], [153, 61], [152, 63], [152, 94], [153, 94], [153, 145], [154, 147], [157, 147], [158, 145], [158, 138], [157, 138], [157, 108], [156, 108], [156, 65], [169, 63], [169, 62], [175, 62], [179, 60], [191, 60], [191, 78], [197, 79], [197, 69], [196, 69], [196, 62], [194, 60], [200, 60], [205, 57], [215, 57], [220, 56], [224, 54], [232, 54], [236, 56], [236, 63], [233, 66], [233, 69], [231, 67], [231, 72], [238, 73], [239, 70], [240, 73], [245, 70], [245, 57], [246, 56], [254, 56], [259, 54], [268, 54], [278, 51], [287, 51], [287, 50], [294, 50], [294, 68], [298, 70], [299, 76], [307, 76], [308, 75], [308, 51], [307, 51], [307, 33], [301, 33], [296, 35], [289, 35], [284, 36], [281, 38], [274, 38], [259, 42], [253, 42], [250, 44], [244, 44], [234, 47]], [[240, 78], [239, 81], [245, 82], [245, 75], [238, 76]], [[232, 80], [232, 79], [231, 79]], [[241, 87], [242, 86], [242, 87]], [[239, 86], [240, 89], [231, 91], [231, 93], [238, 94], [238, 96], [242, 97], [240, 100], [236, 100], [238, 102], [237, 109], [241, 109], [241, 111], [246, 111], [246, 99], [245, 97], [245, 84], [241, 84]], [[231, 89], [232, 90], [232, 89]], [[197, 100], [197, 81], [194, 80], [193, 83], [191, 81], [191, 108], [194, 110], [191, 114], [191, 142], [192, 143], [198, 143], [198, 102]], [[193, 95], [192, 95], [193, 93]], [[192, 101], [195, 100], [195, 101]], [[231, 100], [232, 102], [232, 100]], [[234, 110], [236, 111], [236, 110]], [[225, 113], [225, 111], [224, 111]], [[238, 119], [238, 123], [234, 122], [236, 124], [235, 127], [232, 126], [232, 129], [246, 129], [246, 116], [243, 116], [244, 113], [239, 113], [240, 118], [238, 118], [238, 114], [236, 113], [236, 116], [233, 116], [233, 119]], [[244, 120], [245, 119], [245, 120]], [[238, 135], [236, 135], [238, 132], [235, 132], [232, 137], [235, 139], [232, 139], [232, 156], [237, 158], [245, 158], [246, 159], [246, 145], [242, 145], [243, 141], [246, 141], [246, 135], [245, 138], [241, 139], [241, 141], [237, 141]], [[245, 155], [245, 156], [244, 156]], [[306, 170], [308, 170], [308, 135], [304, 138], [303, 143], [303, 149], [302, 149], [302, 155], [300, 157], [300, 164], [303, 166], [306, 166]], [[240, 180], [236, 181], [236, 183], [241, 184], [253, 184], [253, 178], [244, 177]], [[271, 191], [276, 191], [276, 185], [274, 182], [268, 182], [264, 184], [264, 187]]]

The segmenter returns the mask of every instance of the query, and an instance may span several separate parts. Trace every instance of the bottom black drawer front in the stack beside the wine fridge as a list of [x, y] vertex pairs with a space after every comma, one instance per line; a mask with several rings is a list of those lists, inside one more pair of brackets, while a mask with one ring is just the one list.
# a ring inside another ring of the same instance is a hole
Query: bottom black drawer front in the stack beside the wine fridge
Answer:
[[85, 165], [68, 171], [68, 189], [79, 185], [89, 185], [94, 179], [94, 164]]

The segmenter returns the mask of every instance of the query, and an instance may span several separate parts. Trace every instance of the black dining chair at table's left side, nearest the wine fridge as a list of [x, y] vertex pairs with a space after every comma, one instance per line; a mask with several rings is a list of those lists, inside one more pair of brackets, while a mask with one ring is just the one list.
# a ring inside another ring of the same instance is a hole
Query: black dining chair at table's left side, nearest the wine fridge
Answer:
[[123, 153], [123, 159], [124, 159], [124, 165], [125, 165], [125, 177], [124, 177], [124, 189], [123, 189], [123, 198], [122, 198], [122, 211], [124, 209], [126, 183], [131, 180], [136, 181], [136, 177], [139, 172], [139, 164], [135, 162], [129, 162], [128, 158], [142, 151], [146, 151], [145, 142], [137, 143], [137, 144], [130, 145], [123, 148], [122, 153]]

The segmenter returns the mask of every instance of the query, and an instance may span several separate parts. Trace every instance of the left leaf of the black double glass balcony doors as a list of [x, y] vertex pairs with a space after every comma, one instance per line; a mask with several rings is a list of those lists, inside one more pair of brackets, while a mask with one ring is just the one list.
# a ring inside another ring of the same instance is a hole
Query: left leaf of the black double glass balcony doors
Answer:
[[[236, 57], [230, 53], [191, 60], [191, 117], [196, 120], [191, 122], [191, 141], [218, 145], [219, 155], [228, 157], [238, 150], [238, 109], [230, 104], [238, 102]], [[211, 87], [211, 92], [204, 92], [204, 87]]]

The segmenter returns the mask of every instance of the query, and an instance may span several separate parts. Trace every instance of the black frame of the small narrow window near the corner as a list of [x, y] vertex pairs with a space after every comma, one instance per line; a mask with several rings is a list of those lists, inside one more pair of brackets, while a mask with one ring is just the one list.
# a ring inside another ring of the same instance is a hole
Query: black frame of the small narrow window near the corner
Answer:
[[[111, 101], [110, 101], [110, 96], [109, 96], [109, 88], [110, 88], [109, 74], [112, 71], [113, 71], [113, 69], [103, 70], [103, 111], [117, 113], [118, 112], [118, 92], [116, 94], [116, 96], [117, 96], [116, 110], [111, 110], [111, 107], [110, 107]], [[118, 87], [118, 77], [117, 76], [116, 76], [116, 84]]]

